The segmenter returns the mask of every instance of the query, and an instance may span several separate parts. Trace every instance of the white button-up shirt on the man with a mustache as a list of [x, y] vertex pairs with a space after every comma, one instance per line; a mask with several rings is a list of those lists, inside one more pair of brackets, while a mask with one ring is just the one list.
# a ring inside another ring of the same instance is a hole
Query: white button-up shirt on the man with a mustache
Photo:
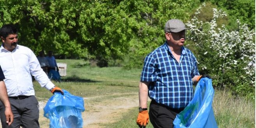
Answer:
[[50, 90], [54, 84], [41, 68], [36, 55], [28, 47], [17, 45], [12, 51], [0, 48], [0, 65], [5, 75], [5, 85], [9, 97], [35, 95], [31, 74], [42, 86]]

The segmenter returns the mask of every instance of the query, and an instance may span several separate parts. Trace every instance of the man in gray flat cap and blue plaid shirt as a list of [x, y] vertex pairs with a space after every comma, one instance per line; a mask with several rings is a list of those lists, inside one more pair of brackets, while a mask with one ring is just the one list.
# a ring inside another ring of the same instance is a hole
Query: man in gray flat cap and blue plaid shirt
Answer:
[[[139, 84], [137, 125], [150, 122], [154, 128], [173, 128], [176, 114], [193, 98], [193, 84], [200, 78], [194, 54], [183, 45], [185, 24], [178, 19], [166, 22], [166, 42], [145, 57]], [[147, 99], [151, 99], [149, 113]]]

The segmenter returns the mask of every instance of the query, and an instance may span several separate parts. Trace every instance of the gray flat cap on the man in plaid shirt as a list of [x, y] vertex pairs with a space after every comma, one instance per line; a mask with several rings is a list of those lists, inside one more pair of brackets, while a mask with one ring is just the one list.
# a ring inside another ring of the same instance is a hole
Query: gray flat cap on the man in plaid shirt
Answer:
[[178, 33], [185, 29], [188, 29], [188, 28], [185, 27], [185, 24], [182, 21], [178, 19], [170, 19], [169, 21], [166, 22], [164, 26], [164, 33], [166, 32]]

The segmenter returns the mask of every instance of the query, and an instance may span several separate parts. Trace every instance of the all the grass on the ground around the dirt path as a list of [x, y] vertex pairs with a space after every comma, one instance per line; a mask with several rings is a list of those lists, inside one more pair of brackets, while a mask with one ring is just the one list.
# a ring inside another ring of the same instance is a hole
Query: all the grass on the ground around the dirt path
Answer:
[[[141, 69], [124, 70], [121, 67], [91, 67], [83, 60], [57, 60], [67, 63], [67, 76], [61, 83], [55, 85], [81, 97], [101, 97], [90, 100], [91, 107], [100, 102], [107, 106], [104, 100], [137, 95]], [[41, 88], [34, 82], [36, 97], [48, 99], [52, 93]], [[121, 94], [121, 95], [113, 95]], [[137, 96], [136, 96], [137, 97]], [[85, 101], [86, 102], [86, 101]], [[213, 109], [219, 128], [255, 128], [255, 101], [243, 98], [234, 99], [228, 92], [215, 90]], [[137, 128], [136, 119], [138, 107], [122, 112], [114, 121], [101, 124], [101, 128]], [[40, 122], [40, 125], [48, 122]], [[149, 123], [147, 128], [153, 128]]]

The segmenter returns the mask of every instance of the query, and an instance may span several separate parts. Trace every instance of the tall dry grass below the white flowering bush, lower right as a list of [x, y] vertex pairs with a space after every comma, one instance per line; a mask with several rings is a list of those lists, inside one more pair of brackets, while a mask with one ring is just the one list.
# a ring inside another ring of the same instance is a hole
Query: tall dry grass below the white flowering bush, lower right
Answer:
[[255, 128], [255, 101], [216, 91], [213, 110], [219, 128]]

